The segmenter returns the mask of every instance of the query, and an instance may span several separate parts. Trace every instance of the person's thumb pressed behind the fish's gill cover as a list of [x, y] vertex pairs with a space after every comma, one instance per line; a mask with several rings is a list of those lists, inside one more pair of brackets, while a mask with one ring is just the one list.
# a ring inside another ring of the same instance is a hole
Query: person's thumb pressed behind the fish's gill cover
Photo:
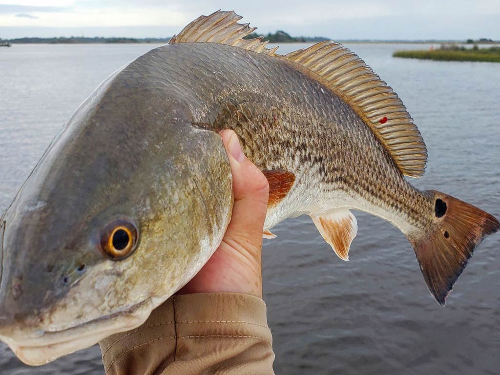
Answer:
[[223, 130], [220, 136], [229, 157], [234, 192], [232, 217], [224, 241], [260, 256], [255, 251], [262, 246], [269, 184], [263, 173], [243, 154], [234, 131]]

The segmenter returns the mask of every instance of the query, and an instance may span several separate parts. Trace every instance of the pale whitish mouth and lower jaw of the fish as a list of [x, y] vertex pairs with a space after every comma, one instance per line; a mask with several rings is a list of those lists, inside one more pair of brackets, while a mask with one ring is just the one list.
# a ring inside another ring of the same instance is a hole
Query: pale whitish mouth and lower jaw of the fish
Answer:
[[18, 337], [15, 338], [0, 334], [0, 339], [22, 362], [38, 366], [76, 350], [92, 346], [114, 333], [138, 327], [147, 319], [152, 308], [151, 298], [146, 298], [118, 312], [88, 320], [63, 330], [33, 330], [28, 334], [17, 334]]

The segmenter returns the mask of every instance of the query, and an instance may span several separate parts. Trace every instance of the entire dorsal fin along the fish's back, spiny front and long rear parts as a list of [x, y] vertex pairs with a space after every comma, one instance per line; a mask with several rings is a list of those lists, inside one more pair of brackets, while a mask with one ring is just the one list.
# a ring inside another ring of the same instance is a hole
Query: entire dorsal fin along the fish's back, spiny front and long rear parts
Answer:
[[168, 43], [228, 44], [301, 65], [301, 70], [312, 72], [312, 79], [319, 79], [319, 76], [326, 87], [353, 108], [402, 174], [410, 177], [423, 174], [427, 149], [413, 119], [392, 88], [355, 53], [340, 43], [322, 41], [282, 56], [275, 53], [277, 47], [266, 48], [267, 42], [262, 41], [262, 36], [243, 39], [256, 27], [237, 23], [241, 18], [232, 10], [217, 10], [210, 15], [202, 15], [172, 36]]

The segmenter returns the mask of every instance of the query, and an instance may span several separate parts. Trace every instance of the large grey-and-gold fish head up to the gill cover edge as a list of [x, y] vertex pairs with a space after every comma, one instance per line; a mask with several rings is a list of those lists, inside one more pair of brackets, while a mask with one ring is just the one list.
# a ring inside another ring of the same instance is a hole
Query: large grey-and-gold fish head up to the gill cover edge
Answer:
[[0, 339], [27, 364], [140, 325], [229, 222], [219, 135], [141, 76], [80, 106], [1, 219]]

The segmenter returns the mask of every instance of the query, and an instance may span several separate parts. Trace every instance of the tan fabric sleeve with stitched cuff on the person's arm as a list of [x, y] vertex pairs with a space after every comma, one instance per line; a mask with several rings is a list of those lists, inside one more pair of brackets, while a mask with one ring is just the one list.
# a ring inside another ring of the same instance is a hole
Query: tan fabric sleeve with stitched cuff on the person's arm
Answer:
[[107, 375], [274, 373], [265, 303], [247, 294], [174, 295], [99, 344]]

